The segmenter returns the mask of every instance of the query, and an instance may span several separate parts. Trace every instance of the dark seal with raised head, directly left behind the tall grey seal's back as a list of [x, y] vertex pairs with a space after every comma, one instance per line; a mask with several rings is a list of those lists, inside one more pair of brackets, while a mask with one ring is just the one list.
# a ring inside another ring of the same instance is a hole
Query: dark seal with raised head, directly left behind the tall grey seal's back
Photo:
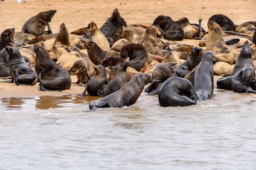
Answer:
[[180, 64], [176, 69], [176, 74], [178, 77], [184, 78], [189, 72], [192, 71], [201, 61], [203, 57], [203, 52], [200, 47], [194, 47], [191, 50], [189, 59], [182, 64]]

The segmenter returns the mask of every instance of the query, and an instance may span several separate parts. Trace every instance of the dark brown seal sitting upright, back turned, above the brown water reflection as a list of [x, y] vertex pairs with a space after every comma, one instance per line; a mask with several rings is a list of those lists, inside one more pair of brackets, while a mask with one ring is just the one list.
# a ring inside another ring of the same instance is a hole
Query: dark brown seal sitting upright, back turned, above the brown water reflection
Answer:
[[34, 45], [35, 72], [39, 77], [39, 86], [43, 91], [62, 91], [70, 89], [69, 73], [50, 59], [49, 52], [44, 47]]

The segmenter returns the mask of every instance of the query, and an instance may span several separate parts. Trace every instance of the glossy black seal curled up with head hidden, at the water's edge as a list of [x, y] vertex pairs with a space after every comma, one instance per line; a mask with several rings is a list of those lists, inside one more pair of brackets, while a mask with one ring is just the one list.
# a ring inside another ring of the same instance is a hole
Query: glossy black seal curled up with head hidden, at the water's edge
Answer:
[[159, 90], [158, 102], [161, 107], [185, 107], [196, 104], [195, 91], [185, 78], [167, 79]]

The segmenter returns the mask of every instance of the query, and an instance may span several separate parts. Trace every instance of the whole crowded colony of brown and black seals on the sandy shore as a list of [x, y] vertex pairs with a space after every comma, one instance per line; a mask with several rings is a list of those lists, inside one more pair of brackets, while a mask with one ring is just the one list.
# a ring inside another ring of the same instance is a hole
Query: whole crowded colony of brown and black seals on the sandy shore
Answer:
[[[76, 83], [85, 87], [81, 96], [103, 97], [90, 109], [135, 104], [147, 83], [145, 92], [159, 93], [162, 107], [193, 105], [211, 98], [213, 75], [223, 76], [217, 88], [256, 93], [256, 21], [235, 25], [217, 14], [209, 18], [206, 32], [202, 18], [189, 23], [185, 17], [174, 21], [160, 15], [151, 26], [128, 25], [115, 9], [100, 28], [92, 21], [69, 33], [62, 23], [52, 33], [49, 22], [56, 12], [40, 12], [21, 32], [2, 32], [0, 78], [11, 78], [2, 82], [40, 82], [39, 90], [62, 91], [70, 89], [70, 75], [76, 75]], [[184, 38], [200, 42], [195, 47], [175, 42]]]

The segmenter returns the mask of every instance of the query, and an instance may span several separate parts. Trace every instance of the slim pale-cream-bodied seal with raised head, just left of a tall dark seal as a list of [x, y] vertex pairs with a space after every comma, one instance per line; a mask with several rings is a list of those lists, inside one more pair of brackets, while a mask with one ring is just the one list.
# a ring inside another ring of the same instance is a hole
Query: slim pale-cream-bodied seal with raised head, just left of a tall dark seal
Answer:
[[110, 51], [107, 38], [102, 34], [94, 22], [90, 22], [89, 40], [97, 43], [102, 50]]

